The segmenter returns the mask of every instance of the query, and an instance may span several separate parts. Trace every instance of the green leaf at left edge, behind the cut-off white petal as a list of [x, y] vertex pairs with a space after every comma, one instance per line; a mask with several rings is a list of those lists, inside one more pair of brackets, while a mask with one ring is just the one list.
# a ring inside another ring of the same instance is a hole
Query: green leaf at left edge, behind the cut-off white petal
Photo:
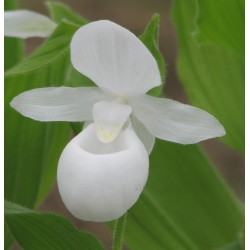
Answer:
[[[4, 0], [4, 10], [16, 9], [16, 0]], [[4, 70], [15, 66], [23, 56], [23, 41], [17, 38], [4, 38]]]

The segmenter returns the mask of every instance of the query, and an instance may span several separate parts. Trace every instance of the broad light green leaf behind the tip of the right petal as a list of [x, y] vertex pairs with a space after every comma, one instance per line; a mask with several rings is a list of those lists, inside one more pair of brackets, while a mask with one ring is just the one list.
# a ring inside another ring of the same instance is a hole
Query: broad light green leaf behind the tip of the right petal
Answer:
[[176, 0], [173, 7], [179, 43], [178, 74], [188, 97], [194, 106], [223, 124], [227, 135], [222, 140], [243, 153], [244, 60], [221, 46], [197, 45], [192, 36], [195, 0]]

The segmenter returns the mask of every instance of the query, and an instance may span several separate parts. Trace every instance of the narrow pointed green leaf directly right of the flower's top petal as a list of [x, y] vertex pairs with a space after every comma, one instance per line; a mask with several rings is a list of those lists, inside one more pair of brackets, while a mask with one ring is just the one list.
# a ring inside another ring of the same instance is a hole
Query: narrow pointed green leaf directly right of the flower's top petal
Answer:
[[159, 51], [158, 37], [159, 37], [159, 22], [160, 15], [155, 14], [152, 20], [147, 25], [144, 33], [139, 37], [144, 45], [149, 49], [149, 51], [154, 56], [161, 74], [162, 84], [159, 87], [153, 88], [149, 91], [150, 95], [159, 96], [162, 93], [162, 89], [166, 80], [166, 64], [164, 58]]

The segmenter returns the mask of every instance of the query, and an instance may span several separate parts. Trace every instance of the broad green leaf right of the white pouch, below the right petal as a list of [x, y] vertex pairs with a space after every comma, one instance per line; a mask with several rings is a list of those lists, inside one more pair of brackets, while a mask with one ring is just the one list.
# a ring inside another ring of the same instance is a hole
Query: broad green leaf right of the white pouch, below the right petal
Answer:
[[197, 146], [157, 140], [125, 243], [134, 250], [210, 250], [236, 241], [243, 223], [241, 204]]

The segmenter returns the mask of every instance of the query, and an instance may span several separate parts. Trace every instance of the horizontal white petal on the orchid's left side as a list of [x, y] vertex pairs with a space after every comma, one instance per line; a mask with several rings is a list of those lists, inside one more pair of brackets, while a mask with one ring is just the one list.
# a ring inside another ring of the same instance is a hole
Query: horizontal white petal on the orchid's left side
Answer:
[[16, 96], [11, 107], [38, 121], [86, 121], [92, 119], [94, 103], [108, 97], [93, 87], [32, 89]]

